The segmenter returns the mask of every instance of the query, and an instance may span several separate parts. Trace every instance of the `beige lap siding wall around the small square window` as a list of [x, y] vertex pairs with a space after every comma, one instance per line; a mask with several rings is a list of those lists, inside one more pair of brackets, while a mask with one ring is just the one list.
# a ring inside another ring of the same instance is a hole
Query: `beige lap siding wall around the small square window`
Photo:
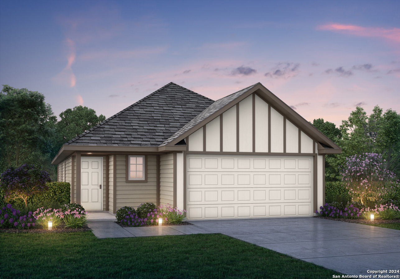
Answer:
[[116, 208], [137, 207], [143, 202], [157, 203], [157, 156], [147, 155], [147, 182], [126, 183], [126, 155], [117, 155]]

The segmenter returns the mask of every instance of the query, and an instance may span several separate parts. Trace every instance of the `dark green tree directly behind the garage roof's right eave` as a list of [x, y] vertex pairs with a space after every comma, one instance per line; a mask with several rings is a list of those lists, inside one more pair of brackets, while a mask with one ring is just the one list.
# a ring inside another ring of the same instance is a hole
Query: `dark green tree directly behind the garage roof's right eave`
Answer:
[[[336, 125], [332, 122], [324, 122], [324, 119], [318, 118], [314, 119], [311, 124], [336, 144], [338, 144], [338, 142], [342, 139], [342, 132], [339, 128], [336, 128]], [[335, 167], [335, 160], [336, 155], [325, 156], [326, 181], [337, 181], [336, 177], [338, 176], [338, 170], [337, 167]]]

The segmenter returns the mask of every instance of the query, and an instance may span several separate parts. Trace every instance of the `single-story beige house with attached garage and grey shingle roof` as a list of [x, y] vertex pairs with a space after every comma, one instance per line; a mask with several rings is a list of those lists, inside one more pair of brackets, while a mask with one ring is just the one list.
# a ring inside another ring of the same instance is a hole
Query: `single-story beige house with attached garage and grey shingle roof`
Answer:
[[341, 149], [261, 83], [213, 101], [169, 83], [64, 144], [52, 164], [71, 202], [142, 202], [189, 220], [313, 216], [326, 154]]

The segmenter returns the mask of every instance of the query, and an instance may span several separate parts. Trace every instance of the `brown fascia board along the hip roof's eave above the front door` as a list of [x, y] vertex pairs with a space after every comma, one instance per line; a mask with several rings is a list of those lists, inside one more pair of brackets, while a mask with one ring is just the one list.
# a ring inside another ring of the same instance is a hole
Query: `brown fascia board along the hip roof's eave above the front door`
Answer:
[[185, 151], [185, 145], [179, 146], [162, 146], [162, 147], [142, 147], [142, 146], [109, 146], [109, 145], [63, 145], [58, 151], [56, 157], [54, 157], [51, 162], [52, 165], [58, 165], [60, 162], [64, 161], [66, 158], [71, 156], [76, 152], [81, 153], [146, 153], [146, 154], [156, 154], [165, 153], [170, 151]]

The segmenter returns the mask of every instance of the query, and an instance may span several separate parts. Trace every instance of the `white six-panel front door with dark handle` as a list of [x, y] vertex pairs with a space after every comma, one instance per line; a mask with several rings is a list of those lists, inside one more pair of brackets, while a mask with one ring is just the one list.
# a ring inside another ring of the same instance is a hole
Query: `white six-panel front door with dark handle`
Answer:
[[81, 157], [80, 200], [85, 210], [103, 210], [102, 169], [102, 157]]

